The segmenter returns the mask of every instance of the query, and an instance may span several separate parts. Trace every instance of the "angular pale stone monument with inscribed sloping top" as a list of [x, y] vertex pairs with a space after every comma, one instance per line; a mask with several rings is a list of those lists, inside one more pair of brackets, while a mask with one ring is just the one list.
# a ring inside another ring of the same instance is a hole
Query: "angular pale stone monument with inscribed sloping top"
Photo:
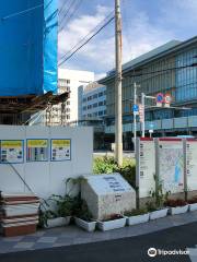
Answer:
[[94, 219], [136, 209], [136, 191], [119, 174], [84, 176], [82, 199], [86, 201]]

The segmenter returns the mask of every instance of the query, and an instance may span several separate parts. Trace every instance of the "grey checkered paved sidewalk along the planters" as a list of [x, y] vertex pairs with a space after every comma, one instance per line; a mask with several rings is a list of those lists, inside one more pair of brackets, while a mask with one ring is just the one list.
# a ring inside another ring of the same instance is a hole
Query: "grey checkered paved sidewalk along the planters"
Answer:
[[36, 234], [28, 236], [12, 238], [0, 237], [0, 253], [121, 239], [159, 231], [174, 226], [186, 225], [193, 222], [197, 222], [197, 211], [182, 215], [166, 216], [146, 224], [124, 227], [105, 233], [99, 230], [86, 233], [78, 228], [76, 225], [71, 225], [61, 228], [39, 230]]

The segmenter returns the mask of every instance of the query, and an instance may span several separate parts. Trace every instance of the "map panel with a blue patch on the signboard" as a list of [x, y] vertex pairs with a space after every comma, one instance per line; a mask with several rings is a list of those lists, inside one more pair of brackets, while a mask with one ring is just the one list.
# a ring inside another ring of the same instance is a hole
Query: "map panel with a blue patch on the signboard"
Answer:
[[184, 152], [181, 139], [159, 140], [159, 178], [164, 191], [184, 190]]

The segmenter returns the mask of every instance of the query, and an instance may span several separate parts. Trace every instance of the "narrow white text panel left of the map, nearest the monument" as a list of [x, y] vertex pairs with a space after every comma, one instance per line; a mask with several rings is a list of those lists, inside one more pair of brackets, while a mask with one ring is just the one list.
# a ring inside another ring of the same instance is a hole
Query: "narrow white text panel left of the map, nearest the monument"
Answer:
[[155, 146], [152, 139], [139, 139], [137, 142], [137, 183], [139, 198], [147, 198], [155, 190]]

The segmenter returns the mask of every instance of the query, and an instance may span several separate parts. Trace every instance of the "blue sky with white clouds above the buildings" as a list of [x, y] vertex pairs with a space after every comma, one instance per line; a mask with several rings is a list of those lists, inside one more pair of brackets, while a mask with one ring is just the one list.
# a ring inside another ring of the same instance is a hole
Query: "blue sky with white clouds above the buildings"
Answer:
[[[59, 8], [62, 4], [65, 9], [68, 8], [71, 1], [73, 0], [59, 0]], [[197, 35], [197, 0], [120, 0], [120, 3], [123, 62], [172, 39], [186, 40]], [[114, 0], [82, 0], [78, 11], [65, 21], [63, 29], [59, 33], [59, 58], [113, 10]], [[114, 32], [112, 22], [61, 67], [93, 71], [96, 79], [103, 78], [115, 66]]]

